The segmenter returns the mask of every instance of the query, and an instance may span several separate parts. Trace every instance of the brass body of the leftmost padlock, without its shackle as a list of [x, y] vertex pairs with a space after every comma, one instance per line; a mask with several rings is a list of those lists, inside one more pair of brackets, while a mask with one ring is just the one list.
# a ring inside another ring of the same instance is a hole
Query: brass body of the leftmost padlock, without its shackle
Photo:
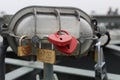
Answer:
[[29, 45], [18, 47], [18, 56], [29, 56], [32, 53], [32, 47]]

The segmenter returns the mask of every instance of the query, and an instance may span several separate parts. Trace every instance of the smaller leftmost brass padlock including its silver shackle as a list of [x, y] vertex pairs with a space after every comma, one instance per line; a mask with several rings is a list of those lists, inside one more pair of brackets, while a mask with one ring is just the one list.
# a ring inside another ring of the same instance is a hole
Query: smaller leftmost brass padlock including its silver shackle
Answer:
[[[28, 55], [31, 55], [32, 53], [32, 46], [31, 46], [30, 40], [25, 38], [27, 38], [27, 36], [22, 36], [19, 39], [18, 56], [28, 56]], [[27, 40], [28, 45], [22, 45], [23, 40]]]

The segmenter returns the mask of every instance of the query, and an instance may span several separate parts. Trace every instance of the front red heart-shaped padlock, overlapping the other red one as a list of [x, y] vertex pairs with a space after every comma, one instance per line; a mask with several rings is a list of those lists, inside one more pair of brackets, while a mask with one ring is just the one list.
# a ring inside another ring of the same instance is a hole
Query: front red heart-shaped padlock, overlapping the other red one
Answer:
[[72, 36], [65, 30], [57, 31], [48, 36], [48, 40], [57, 46], [65, 46], [71, 43]]

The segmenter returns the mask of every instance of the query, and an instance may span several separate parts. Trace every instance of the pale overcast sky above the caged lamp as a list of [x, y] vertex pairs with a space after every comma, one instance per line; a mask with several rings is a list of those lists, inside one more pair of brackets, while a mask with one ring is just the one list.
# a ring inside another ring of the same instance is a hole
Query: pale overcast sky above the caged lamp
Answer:
[[[15, 14], [18, 10], [32, 5], [39, 6], [65, 6], [82, 9], [88, 14], [106, 14], [109, 7], [115, 11], [120, 10], [120, 0], [0, 0], [0, 12]], [[120, 13], [120, 11], [119, 11]]]

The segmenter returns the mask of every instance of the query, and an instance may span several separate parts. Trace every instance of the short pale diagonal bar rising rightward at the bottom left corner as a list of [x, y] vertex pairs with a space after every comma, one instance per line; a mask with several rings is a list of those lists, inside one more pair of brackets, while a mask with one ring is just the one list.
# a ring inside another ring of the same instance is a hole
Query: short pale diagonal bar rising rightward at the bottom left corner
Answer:
[[33, 71], [34, 68], [28, 68], [28, 67], [21, 67], [14, 71], [11, 71], [5, 75], [5, 80], [15, 80], [31, 71]]

